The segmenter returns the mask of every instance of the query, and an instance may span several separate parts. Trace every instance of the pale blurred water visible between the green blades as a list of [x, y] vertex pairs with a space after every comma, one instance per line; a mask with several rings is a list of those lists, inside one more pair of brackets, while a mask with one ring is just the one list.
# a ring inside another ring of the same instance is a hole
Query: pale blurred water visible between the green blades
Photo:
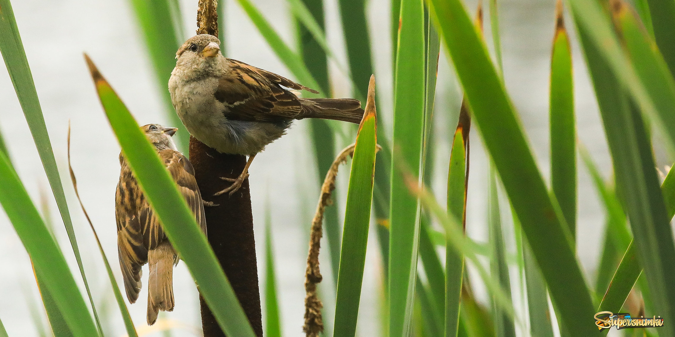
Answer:
[[[227, 57], [292, 78], [240, 7], [232, 1], [221, 1], [221, 4], [223, 3], [227, 13], [225, 20]], [[548, 179], [549, 57], [555, 1], [502, 0], [499, 3], [506, 87], [520, 114], [539, 167]], [[288, 3], [284, 0], [255, 0], [254, 4], [261, 9], [281, 36], [295, 45], [294, 22], [290, 20]], [[117, 311], [101, 257], [88, 224], [74, 199], [72, 185], [68, 179], [66, 133], [70, 120], [72, 163], [78, 177], [80, 195], [111, 259], [115, 276], [121, 281], [117, 267], [114, 216], [114, 193], [119, 177], [117, 160], [119, 146], [94, 92], [82, 59], [82, 52], [88, 53], [94, 59], [141, 125], [167, 123], [167, 117], [162, 110], [164, 106], [159, 94], [160, 89], [157, 88], [153, 78], [152, 65], [146, 55], [142, 36], [130, 8], [130, 1], [21, 0], [13, 1], [12, 5], [38, 96], [41, 99], [57, 163], [62, 171], [75, 232], [94, 299], [103, 319], [102, 323], [104, 328], [113, 331], [110, 336], [124, 336], [124, 325]], [[195, 28], [197, 1], [181, 0], [180, 5], [186, 32], [189, 34], [184, 37], [188, 38]], [[475, 1], [467, 3], [470, 11], [475, 11], [475, 5]], [[338, 62], [346, 64], [342, 36], [338, 33], [342, 29], [337, 1], [325, 0], [325, 11], [329, 44], [335, 51]], [[389, 1], [369, 1], [369, 24], [378, 84], [379, 118], [385, 119], [390, 125], [392, 106]], [[574, 29], [571, 26], [568, 26], [568, 29], [574, 36]], [[491, 36], [487, 25], [486, 34], [489, 40]], [[573, 37], [572, 41], [578, 137], [589, 148], [605, 177], [610, 177], [611, 160], [597, 104], [576, 38]], [[446, 60], [441, 55], [435, 106], [438, 152], [435, 171], [437, 179], [433, 187], [437, 195], [445, 193], [443, 185], [447, 179], [450, 152], [448, 140], [450, 132], [454, 132], [460, 99], [458, 85], [451, 80], [452, 71]], [[350, 84], [333, 61], [331, 61], [331, 82], [335, 96], [350, 96]], [[26, 183], [33, 200], [49, 209], [59, 243], [65, 255], [70, 258], [70, 267], [74, 271], [77, 270], [43, 167], [14, 88], [4, 69], [0, 71], [0, 130], [22, 181]], [[390, 128], [387, 133], [391, 135]], [[476, 130], [472, 131], [471, 137], [466, 227], [471, 237], [478, 241], [487, 241], [487, 157]], [[352, 140], [338, 140], [338, 144], [341, 145], [350, 142]], [[319, 183], [315, 179], [317, 174], [313, 160], [306, 121], [298, 121], [288, 135], [268, 146], [263, 154], [257, 156], [250, 169], [259, 276], [261, 280], [264, 279], [263, 225], [265, 203], [269, 200], [281, 324], [285, 336], [302, 334], [306, 239], [319, 195]], [[661, 167], [668, 164], [665, 158], [657, 156], [657, 160]], [[578, 171], [577, 252], [585, 274], [591, 278], [588, 280], [590, 283], [595, 278], [605, 214], [599, 205], [597, 193], [591, 185], [587, 171], [580, 163]], [[346, 172], [348, 169], [343, 168], [338, 178], [338, 199], [342, 199], [340, 204], [343, 206], [348, 179]], [[508, 210], [508, 205], [504, 205], [502, 210]], [[503, 214], [502, 217], [505, 222], [510, 221], [508, 214]], [[512, 243], [512, 240], [508, 239], [513, 235], [512, 229], [506, 231], [506, 235], [506, 241]], [[322, 245], [327, 247], [325, 239]], [[324, 248], [322, 254], [323, 289], [328, 298], [325, 306], [329, 308], [331, 297], [334, 295], [329, 290], [332, 287], [332, 278], [327, 263], [327, 249]], [[515, 276], [512, 276], [512, 280], [513, 277]], [[360, 305], [359, 336], [379, 336], [380, 282], [381, 262], [375, 231], [371, 230]], [[143, 283], [146, 284], [145, 278]], [[514, 302], [519, 305], [518, 282], [512, 281], [512, 287]], [[175, 310], [163, 318], [182, 327], [174, 330], [173, 336], [199, 336], [198, 296], [194, 282], [182, 263], [174, 273], [174, 289]], [[138, 303], [129, 305], [137, 326], [145, 325], [145, 291], [146, 287], [142, 290]], [[487, 301], [485, 291], [480, 287], [477, 288], [477, 295], [479, 299]], [[33, 311], [38, 311], [38, 314], [34, 315]], [[28, 255], [5, 214], [0, 212], [0, 317], [9, 336], [38, 336], [38, 330], [35, 328], [36, 317], [46, 322], [42, 312]], [[146, 336], [160, 336], [160, 334], [152, 333]]]

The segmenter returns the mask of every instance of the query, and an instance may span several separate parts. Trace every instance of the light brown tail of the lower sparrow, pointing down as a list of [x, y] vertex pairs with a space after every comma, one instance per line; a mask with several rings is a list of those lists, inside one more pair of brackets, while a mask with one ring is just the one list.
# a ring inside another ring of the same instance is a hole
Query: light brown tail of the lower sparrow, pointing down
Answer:
[[175, 250], [169, 241], [148, 251], [148, 325], [155, 324], [159, 311], [173, 310], [173, 264]]

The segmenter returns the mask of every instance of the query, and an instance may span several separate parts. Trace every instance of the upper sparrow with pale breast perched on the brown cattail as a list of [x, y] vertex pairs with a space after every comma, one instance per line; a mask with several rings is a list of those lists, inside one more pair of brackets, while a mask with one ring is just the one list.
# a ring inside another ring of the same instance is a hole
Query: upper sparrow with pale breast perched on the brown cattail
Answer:
[[275, 73], [227, 59], [215, 36], [192, 36], [178, 49], [169, 79], [171, 101], [185, 127], [221, 153], [249, 156], [232, 185], [234, 193], [258, 152], [286, 133], [294, 119], [321, 118], [358, 124], [361, 103], [354, 99], [299, 98], [290, 89], [317, 91]]

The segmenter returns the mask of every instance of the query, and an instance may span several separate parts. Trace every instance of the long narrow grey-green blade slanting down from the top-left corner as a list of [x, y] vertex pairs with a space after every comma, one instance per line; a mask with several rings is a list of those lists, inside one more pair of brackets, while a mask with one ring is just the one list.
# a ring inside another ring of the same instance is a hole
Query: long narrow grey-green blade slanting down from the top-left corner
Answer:
[[[63, 193], [61, 177], [59, 176], [59, 170], [56, 166], [56, 160], [51, 148], [49, 133], [47, 132], [47, 125], [45, 124], [45, 117], [42, 113], [37, 91], [35, 90], [33, 76], [30, 72], [30, 67], [28, 66], [28, 59], [26, 59], [26, 51], [24, 51], [24, 44], [21, 41], [19, 29], [16, 25], [16, 19], [14, 18], [14, 11], [11, 9], [11, 2], [9, 0], [0, 0], [0, 8], [2, 9], [0, 10], [0, 32], [3, 32], [0, 34], [0, 52], [5, 60], [9, 78], [11, 78], [11, 82], [14, 84], [16, 96], [19, 99], [24, 115], [26, 116], [26, 122], [28, 123], [28, 128], [30, 129], [30, 133], [38, 150], [40, 160], [45, 168], [49, 186], [51, 187], [57, 207], [61, 213], [63, 225], [65, 226], [65, 231], [68, 233], [68, 239], [73, 248], [78, 268], [80, 268], [80, 275], [84, 281], [84, 288], [86, 289], [89, 303], [94, 313], [94, 321], [96, 322], [97, 330], [99, 335], [101, 335], [103, 334], [103, 331], [101, 330], [101, 324], [99, 323], [99, 316], [96, 313], [96, 307], [94, 307], [94, 300], [91, 296], [89, 283], [84, 274], [80, 249], [78, 248], [78, 242], [73, 230], [73, 223], [70, 218], [68, 204], [65, 201], [65, 193]], [[6, 149], [4, 152], [7, 153]]]

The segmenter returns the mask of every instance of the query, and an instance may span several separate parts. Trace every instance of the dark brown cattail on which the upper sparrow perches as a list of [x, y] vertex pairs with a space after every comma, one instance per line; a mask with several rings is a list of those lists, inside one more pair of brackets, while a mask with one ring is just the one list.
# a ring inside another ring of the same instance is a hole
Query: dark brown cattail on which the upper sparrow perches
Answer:
[[[218, 36], [217, 8], [217, 0], [199, 0], [197, 34]], [[217, 197], [213, 196], [231, 184], [221, 177], [236, 178], [242, 173], [246, 156], [221, 154], [190, 137], [190, 162], [194, 166], [194, 176], [202, 197], [205, 201], [218, 205], [205, 208], [209, 244], [213, 247], [213, 252], [229, 283], [232, 284], [253, 331], [257, 336], [263, 337], [263, 316], [248, 179], [232, 195], [224, 193]], [[199, 302], [204, 337], [225, 336], [202, 297], [199, 298]]]

